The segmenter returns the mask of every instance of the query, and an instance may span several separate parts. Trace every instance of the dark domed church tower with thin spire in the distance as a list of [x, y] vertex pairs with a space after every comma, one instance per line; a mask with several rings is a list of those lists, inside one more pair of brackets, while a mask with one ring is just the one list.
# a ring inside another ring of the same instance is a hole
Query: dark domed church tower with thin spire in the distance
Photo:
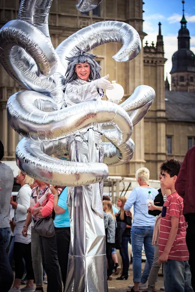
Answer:
[[171, 74], [172, 91], [195, 91], [195, 54], [190, 51], [190, 33], [187, 29], [187, 20], [184, 16], [180, 21], [181, 28], [178, 33], [178, 50], [172, 57], [173, 67]]

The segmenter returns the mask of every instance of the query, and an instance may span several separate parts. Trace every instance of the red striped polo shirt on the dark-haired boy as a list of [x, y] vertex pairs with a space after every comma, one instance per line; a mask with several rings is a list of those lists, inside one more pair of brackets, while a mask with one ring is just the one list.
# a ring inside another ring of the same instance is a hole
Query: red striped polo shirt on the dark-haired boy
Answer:
[[179, 218], [179, 224], [176, 239], [173, 243], [168, 259], [179, 261], [189, 260], [189, 252], [186, 245], [187, 223], [183, 216], [183, 199], [177, 194], [177, 192], [169, 195], [163, 206], [158, 242], [159, 256], [163, 253], [169, 237], [172, 216]]

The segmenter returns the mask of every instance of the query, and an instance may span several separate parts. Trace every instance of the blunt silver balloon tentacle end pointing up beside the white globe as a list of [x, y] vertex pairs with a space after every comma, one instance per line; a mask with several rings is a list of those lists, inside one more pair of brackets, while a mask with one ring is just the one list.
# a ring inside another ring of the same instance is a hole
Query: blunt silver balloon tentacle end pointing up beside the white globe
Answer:
[[147, 85], [138, 86], [120, 107], [125, 110], [135, 126], [148, 112], [155, 99], [155, 91]]

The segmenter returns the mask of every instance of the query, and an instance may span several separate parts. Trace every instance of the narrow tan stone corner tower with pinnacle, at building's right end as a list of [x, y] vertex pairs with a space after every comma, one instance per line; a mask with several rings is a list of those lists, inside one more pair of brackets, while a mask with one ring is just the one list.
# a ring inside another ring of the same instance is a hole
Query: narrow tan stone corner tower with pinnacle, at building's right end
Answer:
[[166, 116], [163, 36], [161, 23], [156, 41], [144, 47], [144, 84], [152, 86], [156, 91], [156, 99], [144, 118], [145, 166], [150, 169], [150, 177], [157, 179], [159, 165], [166, 159]]

